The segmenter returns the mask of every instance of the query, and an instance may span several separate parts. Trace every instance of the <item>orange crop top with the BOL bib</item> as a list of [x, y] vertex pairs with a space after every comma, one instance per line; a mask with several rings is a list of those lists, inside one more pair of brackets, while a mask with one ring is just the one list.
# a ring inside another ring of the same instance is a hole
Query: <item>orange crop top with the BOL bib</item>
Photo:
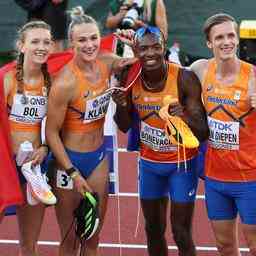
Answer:
[[7, 96], [11, 131], [38, 132], [47, 111], [47, 88], [41, 81], [36, 85], [24, 84], [24, 93], [17, 93], [16, 69], [6, 76], [11, 82]]

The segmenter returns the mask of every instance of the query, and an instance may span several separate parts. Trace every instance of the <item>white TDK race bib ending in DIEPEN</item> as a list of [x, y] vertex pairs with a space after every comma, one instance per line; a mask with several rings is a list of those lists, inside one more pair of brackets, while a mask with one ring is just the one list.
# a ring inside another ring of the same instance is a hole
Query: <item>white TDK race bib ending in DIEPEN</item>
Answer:
[[216, 149], [239, 150], [239, 122], [224, 122], [208, 117], [209, 144]]

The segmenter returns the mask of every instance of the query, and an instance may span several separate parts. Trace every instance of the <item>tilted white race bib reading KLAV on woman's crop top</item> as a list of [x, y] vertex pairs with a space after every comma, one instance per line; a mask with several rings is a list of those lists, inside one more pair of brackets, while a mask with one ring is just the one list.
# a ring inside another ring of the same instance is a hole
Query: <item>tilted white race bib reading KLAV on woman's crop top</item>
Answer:
[[108, 110], [112, 92], [106, 92], [86, 102], [84, 123], [90, 123], [103, 118]]

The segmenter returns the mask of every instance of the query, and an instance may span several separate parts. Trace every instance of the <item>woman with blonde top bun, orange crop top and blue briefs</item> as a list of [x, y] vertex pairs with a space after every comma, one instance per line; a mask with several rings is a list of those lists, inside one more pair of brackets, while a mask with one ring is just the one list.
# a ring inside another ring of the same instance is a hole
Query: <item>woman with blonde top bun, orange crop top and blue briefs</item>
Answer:
[[[78, 246], [71, 246], [76, 240], [73, 211], [86, 191], [97, 192], [100, 226], [104, 221], [108, 161], [103, 125], [111, 98], [106, 90], [111, 72], [126, 63], [99, 52], [98, 25], [81, 7], [71, 11], [71, 18], [68, 36], [74, 57], [54, 78], [46, 123], [46, 138], [58, 164], [54, 189], [63, 256], [77, 255]], [[97, 255], [99, 231], [86, 241], [85, 255]]]

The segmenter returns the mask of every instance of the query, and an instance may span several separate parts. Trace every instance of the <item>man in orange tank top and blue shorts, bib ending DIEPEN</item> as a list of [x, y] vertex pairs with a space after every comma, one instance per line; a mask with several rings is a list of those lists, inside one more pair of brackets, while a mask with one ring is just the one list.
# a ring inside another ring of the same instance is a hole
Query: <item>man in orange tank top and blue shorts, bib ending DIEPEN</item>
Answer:
[[[252, 65], [237, 55], [235, 19], [216, 14], [204, 24], [209, 60], [192, 64], [202, 84], [210, 136], [206, 152], [206, 205], [220, 255], [239, 256], [237, 214], [256, 255], [256, 112]], [[254, 106], [255, 107], [255, 106]]]

